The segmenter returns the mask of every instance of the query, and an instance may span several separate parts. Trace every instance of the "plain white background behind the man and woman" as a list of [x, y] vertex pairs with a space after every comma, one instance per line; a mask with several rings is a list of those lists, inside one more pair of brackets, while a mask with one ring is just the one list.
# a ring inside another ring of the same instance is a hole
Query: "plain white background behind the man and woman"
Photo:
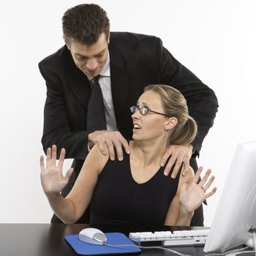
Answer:
[[[0, 222], [49, 222], [39, 181], [45, 81], [37, 63], [63, 45], [61, 17], [74, 0], [5, 1], [0, 9]], [[214, 89], [219, 113], [198, 160], [217, 176], [205, 207], [211, 225], [236, 148], [255, 140], [255, 1], [94, 1], [112, 31], [160, 37], [173, 56]], [[67, 166], [70, 162], [67, 162]]]

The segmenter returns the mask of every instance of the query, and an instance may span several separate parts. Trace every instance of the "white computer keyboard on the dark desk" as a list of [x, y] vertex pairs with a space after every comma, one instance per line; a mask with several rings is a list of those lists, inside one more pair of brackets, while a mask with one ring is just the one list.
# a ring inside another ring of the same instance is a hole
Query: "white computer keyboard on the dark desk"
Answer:
[[140, 246], [197, 246], [206, 244], [210, 230], [176, 230], [129, 233], [129, 238]]

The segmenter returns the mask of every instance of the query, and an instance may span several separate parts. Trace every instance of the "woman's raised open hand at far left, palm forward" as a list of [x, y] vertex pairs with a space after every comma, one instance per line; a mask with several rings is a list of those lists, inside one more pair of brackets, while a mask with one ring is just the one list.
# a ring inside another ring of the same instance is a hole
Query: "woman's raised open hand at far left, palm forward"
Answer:
[[40, 167], [41, 167], [41, 184], [42, 189], [46, 195], [53, 195], [60, 193], [62, 189], [67, 185], [69, 177], [73, 172], [73, 168], [70, 168], [66, 175], [62, 174], [62, 166], [65, 157], [65, 149], [61, 148], [61, 154], [59, 157], [59, 162], [57, 164], [57, 146], [53, 145], [52, 148], [47, 149], [46, 155], [46, 166], [44, 157], [40, 157]]

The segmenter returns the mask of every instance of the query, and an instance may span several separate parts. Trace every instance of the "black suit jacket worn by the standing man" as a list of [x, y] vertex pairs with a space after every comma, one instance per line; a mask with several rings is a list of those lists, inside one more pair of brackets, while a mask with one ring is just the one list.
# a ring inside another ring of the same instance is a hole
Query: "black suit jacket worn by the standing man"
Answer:
[[[110, 79], [118, 131], [132, 138], [129, 107], [135, 105], [143, 88], [162, 83], [175, 87], [187, 99], [189, 113], [197, 121], [198, 133], [193, 143], [199, 154], [217, 113], [214, 91], [180, 64], [163, 46], [161, 39], [128, 32], [110, 33]], [[44, 110], [42, 145], [66, 148], [66, 158], [73, 158], [76, 176], [85, 159], [88, 144], [86, 131], [89, 80], [75, 66], [66, 46], [39, 62], [45, 78], [47, 97]], [[191, 165], [196, 170], [195, 158]], [[69, 192], [69, 188], [67, 189]], [[64, 192], [64, 195], [67, 194]]]

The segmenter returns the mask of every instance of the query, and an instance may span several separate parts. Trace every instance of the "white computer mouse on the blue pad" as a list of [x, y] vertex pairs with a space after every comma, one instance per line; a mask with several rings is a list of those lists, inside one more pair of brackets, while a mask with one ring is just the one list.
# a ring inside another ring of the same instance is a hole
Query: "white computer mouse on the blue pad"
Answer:
[[89, 244], [105, 244], [107, 241], [107, 237], [105, 236], [105, 233], [103, 233], [101, 230], [98, 230], [94, 227], [87, 227], [80, 231], [78, 236], [80, 241], [89, 243]]

